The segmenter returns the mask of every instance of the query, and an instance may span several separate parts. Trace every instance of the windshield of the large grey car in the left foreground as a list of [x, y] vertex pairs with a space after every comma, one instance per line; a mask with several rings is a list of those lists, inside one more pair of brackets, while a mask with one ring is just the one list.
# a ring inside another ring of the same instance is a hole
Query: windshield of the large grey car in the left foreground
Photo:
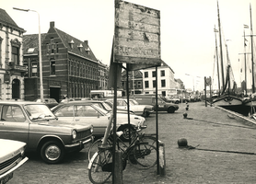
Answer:
[[52, 111], [43, 104], [29, 104], [24, 107], [31, 121], [55, 119]]

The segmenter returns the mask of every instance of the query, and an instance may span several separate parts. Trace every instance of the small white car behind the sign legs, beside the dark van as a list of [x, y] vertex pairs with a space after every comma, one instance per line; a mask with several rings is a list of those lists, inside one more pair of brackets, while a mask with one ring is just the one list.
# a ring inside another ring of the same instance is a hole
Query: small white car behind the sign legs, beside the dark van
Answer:
[[[131, 98], [132, 99], [132, 98]], [[107, 99], [106, 101], [111, 101], [113, 104], [113, 98]], [[129, 100], [129, 108], [138, 116], [148, 117], [151, 113], [154, 112], [153, 106], [148, 105], [137, 105], [134, 104], [133, 100]], [[117, 98], [117, 109], [128, 109], [127, 99], [126, 98]]]

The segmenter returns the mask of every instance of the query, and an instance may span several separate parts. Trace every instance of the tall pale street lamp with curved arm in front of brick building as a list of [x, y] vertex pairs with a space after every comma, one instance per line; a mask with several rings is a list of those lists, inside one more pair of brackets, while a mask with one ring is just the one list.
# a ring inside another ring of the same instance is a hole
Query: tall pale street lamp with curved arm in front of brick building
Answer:
[[25, 11], [25, 12], [36, 12], [39, 17], [39, 64], [40, 64], [40, 94], [41, 94], [41, 102], [43, 101], [43, 86], [42, 86], [42, 65], [41, 65], [41, 29], [40, 29], [40, 15], [37, 11], [31, 10], [31, 9], [21, 9], [17, 7], [13, 7], [16, 10], [19, 11]]

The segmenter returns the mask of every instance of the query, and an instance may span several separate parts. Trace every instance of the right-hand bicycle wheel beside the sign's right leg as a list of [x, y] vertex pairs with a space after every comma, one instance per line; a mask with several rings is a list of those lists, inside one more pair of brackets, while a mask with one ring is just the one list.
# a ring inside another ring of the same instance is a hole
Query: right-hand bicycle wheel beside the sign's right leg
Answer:
[[128, 155], [129, 163], [140, 169], [154, 167], [157, 164], [157, 148], [152, 144], [135, 144]]

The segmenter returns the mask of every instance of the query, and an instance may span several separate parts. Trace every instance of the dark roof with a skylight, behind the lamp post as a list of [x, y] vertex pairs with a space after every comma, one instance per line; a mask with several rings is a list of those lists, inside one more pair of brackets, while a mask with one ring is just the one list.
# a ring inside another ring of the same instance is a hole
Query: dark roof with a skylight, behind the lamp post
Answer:
[[[41, 42], [45, 39], [46, 33], [41, 34]], [[38, 54], [39, 51], [39, 35], [29, 34], [23, 35], [23, 53], [24, 54]], [[33, 49], [34, 50], [31, 50]]]

